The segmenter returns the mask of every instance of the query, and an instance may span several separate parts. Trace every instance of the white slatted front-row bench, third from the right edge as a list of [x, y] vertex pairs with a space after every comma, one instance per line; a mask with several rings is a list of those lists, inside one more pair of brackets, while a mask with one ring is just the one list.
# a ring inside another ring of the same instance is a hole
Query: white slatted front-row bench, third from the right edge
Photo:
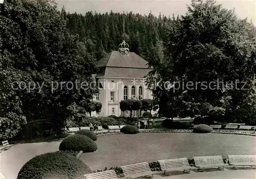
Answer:
[[191, 167], [188, 163], [187, 158], [180, 158], [180, 159], [168, 159], [168, 160], [159, 160], [160, 167], [163, 171], [176, 171], [176, 170], [186, 170], [190, 173]]

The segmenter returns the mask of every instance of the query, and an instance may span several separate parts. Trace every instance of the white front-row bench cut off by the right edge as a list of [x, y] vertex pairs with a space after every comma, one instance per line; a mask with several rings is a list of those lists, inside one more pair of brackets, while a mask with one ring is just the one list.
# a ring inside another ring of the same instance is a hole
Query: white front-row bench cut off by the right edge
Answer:
[[[232, 165], [234, 168], [236, 166], [250, 166], [255, 168], [256, 166], [256, 156], [228, 156], [229, 164]], [[254, 167], [253, 167], [254, 166]]]

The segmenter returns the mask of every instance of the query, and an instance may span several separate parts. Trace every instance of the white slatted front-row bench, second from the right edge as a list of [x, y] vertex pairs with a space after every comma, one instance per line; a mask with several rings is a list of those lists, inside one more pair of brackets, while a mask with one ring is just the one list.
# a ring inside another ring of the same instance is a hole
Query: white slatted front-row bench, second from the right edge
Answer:
[[193, 159], [198, 170], [212, 167], [218, 167], [218, 169], [222, 167], [224, 170], [224, 166], [227, 165], [224, 164], [222, 156], [193, 157]]

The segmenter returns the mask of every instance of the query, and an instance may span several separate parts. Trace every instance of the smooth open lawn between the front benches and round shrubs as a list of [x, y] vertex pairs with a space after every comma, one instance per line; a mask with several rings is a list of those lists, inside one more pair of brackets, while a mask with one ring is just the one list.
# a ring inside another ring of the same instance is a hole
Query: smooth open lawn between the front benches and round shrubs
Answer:
[[80, 160], [92, 170], [193, 156], [256, 155], [256, 138], [229, 134], [155, 133], [102, 136]]

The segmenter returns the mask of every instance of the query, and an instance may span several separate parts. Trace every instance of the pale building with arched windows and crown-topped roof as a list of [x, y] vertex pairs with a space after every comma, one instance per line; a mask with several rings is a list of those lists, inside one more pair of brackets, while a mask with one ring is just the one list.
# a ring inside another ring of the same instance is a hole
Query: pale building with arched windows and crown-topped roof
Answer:
[[[102, 109], [99, 114], [92, 112], [92, 116], [129, 115], [129, 112], [121, 112], [121, 100], [134, 97], [153, 98], [152, 92], [147, 89], [144, 82], [144, 76], [151, 70], [147, 66], [147, 61], [132, 52], [123, 55], [122, 49], [127, 50], [119, 48], [120, 52], [112, 51], [98, 62], [99, 72], [94, 76], [100, 90], [94, 100], [102, 104]], [[133, 116], [139, 115], [138, 111], [133, 113]], [[152, 111], [153, 113], [155, 112]]]

